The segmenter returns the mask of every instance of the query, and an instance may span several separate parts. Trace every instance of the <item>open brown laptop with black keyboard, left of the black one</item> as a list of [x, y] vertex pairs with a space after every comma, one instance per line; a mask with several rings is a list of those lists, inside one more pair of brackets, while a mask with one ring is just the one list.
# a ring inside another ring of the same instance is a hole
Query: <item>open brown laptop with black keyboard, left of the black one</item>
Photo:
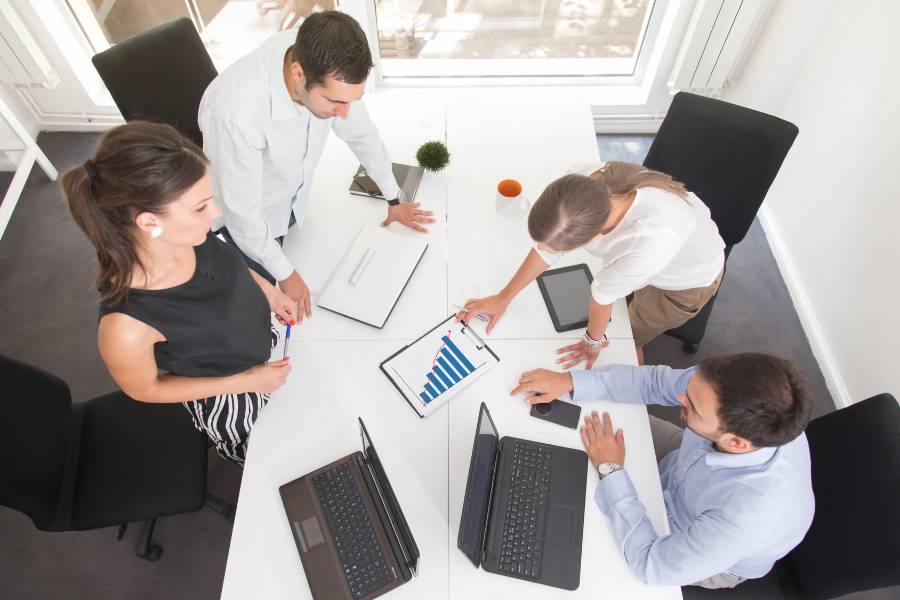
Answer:
[[316, 600], [368, 600], [418, 573], [412, 537], [369, 433], [355, 452], [279, 488]]

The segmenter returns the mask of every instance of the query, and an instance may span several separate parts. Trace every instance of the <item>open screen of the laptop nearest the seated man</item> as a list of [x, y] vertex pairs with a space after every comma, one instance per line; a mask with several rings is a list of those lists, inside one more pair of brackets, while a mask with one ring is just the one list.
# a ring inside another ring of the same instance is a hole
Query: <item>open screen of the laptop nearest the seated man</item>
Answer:
[[491, 495], [491, 483], [494, 478], [494, 454], [499, 441], [497, 428], [494, 427], [487, 406], [482, 402], [457, 540], [457, 547], [476, 567], [481, 565], [488, 498]]

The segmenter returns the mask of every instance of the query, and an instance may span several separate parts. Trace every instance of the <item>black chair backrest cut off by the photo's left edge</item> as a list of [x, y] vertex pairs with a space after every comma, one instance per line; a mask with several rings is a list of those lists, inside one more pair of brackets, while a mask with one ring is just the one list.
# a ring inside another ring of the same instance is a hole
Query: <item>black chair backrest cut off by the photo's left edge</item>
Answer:
[[62, 379], [0, 355], [0, 504], [38, 527], [56, 513], [71, 414]]

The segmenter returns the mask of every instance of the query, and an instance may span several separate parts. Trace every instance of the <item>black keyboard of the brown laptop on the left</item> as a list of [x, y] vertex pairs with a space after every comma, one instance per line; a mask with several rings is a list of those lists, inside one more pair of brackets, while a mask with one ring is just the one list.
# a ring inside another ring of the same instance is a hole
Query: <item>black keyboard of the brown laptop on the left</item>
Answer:
[[353, 597], [368, 596], [393, 582], [350, 465], [316, 475], [313, 483]]

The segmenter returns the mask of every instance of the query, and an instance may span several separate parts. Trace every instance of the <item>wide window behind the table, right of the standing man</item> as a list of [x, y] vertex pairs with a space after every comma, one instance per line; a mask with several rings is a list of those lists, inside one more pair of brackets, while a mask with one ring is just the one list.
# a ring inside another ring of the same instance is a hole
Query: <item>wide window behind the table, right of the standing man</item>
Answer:
[[660, 0], [374, 0], [380, 77], [634, 76]]

